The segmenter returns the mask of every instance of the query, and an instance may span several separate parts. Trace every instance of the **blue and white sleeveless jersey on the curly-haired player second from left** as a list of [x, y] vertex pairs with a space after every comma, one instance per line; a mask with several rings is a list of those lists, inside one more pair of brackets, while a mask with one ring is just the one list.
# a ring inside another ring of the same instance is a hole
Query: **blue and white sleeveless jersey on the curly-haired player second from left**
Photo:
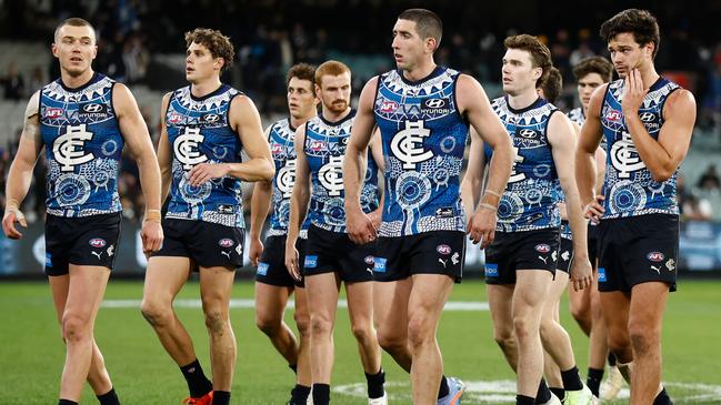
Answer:
[[190, 85], [176, 90], [166, 112], [172, 148], [171, 198], [166, 217], [243, 227], [240, 180], [230, 175], [200, 186], [188, 183], [188, 172], [199, 163], [241, 161], [240, 138], [230, 128], [230, 103], [240, 92], [227, 84], [202, 98]]

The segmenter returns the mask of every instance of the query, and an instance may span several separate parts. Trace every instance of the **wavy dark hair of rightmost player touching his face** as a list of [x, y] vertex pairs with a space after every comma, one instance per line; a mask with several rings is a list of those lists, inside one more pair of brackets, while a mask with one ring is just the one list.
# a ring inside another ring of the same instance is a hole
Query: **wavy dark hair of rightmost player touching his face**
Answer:
[[639, 9], [623, 10], [603, 22], [599, 31], [605, 43], [624, 32], [632, 33], [633, 40], [641, 47], [653, 43], [653, 58], [655, 58], [661, 44], [661, 33], [659, 21], [651, 12]]

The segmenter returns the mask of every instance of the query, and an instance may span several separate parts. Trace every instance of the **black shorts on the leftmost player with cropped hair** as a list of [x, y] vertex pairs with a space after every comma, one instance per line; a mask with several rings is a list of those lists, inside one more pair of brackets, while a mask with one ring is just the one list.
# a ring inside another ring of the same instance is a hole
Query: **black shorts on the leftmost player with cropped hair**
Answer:
[[118, 253], [121, 221], [119, 212], [81, 217], [48, 214], [46, 274], [68, 274], [69, 264], [112, 270]]

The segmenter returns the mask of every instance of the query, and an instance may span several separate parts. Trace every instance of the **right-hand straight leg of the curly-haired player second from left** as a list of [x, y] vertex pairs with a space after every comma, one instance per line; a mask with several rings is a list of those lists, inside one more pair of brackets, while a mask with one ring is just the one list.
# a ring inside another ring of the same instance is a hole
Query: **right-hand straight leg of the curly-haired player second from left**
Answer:
[[236, 368], [236, 336], [230, 324], [230, 296], [236, 272], [226, 266], [200, 267], [200, 297], [210, 335], [213, 404], [230, 403]]

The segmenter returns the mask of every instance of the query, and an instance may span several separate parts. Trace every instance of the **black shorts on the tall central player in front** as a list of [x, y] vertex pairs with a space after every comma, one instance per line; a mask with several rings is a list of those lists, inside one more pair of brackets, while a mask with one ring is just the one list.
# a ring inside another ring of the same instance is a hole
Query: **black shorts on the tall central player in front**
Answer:
[[465, 234], [431, 231], [415, 235], [379, 237], [373, 276], [379, 282], [413, 274], [445, 274], [460, 283], [465, 259]]

